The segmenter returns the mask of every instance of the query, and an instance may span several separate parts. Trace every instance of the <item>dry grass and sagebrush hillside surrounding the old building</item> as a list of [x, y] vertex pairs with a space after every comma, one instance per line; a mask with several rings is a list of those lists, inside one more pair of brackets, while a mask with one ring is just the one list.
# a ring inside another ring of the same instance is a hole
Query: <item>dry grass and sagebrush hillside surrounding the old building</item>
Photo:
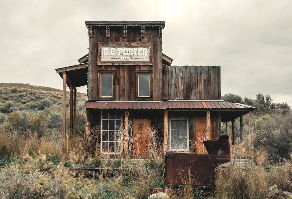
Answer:
[[[170, 198], [207, 198], [187, 182], [180, 187], [165, 186], [164, 152], [155, 130], [148, 145], [149, 156], [144, 161], [131, 161], [132, 157], [126, 154], [101, 154], [96, 143], [99, 128], [92, 130], [89, 138], [93, 153], [86, 153], [84, 102], [85, 94], [78, 93], [75, 132], [70, 142], [66, 140], [66, 150], [62, 152], [62, 91], [0, 83], [0, 198], [148, 198], [152, 187], [164, 188]], [[212, 198], [266, 199], [272, 184], [291, 191], [291, 121], [290, 107], [255, 110], [253, 160], [256, 166], [218, 169], [217, 193]], [[239, 132], [239, 121], [235, 123]], [[248, 157], [247, 123], [245, 116], [245, 141], [231, 145], [231, 158]], [[222, 132], [224, 128], [222, 124]], [[230, 134], [231, 126], [228, 128]], [[120, 132], [120, 147], [123, 147], [124, 133]], [[76, 173], [77, 168], [101, 168], [103, 173], [96, 180]], [[50, 172], [37, 169], [50, 169]], [[108, 178], [109, 174], [115, 177]]]

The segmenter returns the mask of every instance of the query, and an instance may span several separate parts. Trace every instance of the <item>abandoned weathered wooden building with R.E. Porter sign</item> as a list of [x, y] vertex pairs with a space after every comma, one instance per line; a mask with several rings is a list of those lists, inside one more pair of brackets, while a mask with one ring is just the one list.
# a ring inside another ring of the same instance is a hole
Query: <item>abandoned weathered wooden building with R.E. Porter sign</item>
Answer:
[[[164, 151], [202, 153], [202, 140], [221, 135], [221, 122], [249, 113], [252, 156], [254, 107], [221, 100], [220, 66], [172, 66], [162, 54], [164, 21], [86, 21], [89, 53], [79, 64], [56, 69], [63, 79], [63, 138], [66, 85], [70, 87], [70, 128], [74, 128], [76, 87], [87, 85], [86, 136], [100, 127], [101, 153], [147, 156], [149, 127]], [[123, 131], [123, 150], [118, 147]], [[129, 142], [129, 139], [132, 142]], [[241, 137], [242, 139], [242, 137]]]

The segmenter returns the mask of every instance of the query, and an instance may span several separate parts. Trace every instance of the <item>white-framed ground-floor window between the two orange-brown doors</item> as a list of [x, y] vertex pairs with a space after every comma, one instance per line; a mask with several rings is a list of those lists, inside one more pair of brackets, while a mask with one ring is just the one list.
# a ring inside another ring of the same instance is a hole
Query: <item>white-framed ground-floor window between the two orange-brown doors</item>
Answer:
[[189, 150], [189, 120], [188, 118], [170, 118], [169, 150]]

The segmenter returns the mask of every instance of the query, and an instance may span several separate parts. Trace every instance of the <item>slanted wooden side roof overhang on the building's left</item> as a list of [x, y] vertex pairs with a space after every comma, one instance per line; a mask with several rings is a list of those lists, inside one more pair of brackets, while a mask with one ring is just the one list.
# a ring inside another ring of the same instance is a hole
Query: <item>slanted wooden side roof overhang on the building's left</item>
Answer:
[[67, 85], [73, 84], [76, 87], [85, 86], [87, 84], [88, 63], [82, 63], [74, 66], [68, 66], [55, 69], [63, 78], [63, 72], [67, 74]]

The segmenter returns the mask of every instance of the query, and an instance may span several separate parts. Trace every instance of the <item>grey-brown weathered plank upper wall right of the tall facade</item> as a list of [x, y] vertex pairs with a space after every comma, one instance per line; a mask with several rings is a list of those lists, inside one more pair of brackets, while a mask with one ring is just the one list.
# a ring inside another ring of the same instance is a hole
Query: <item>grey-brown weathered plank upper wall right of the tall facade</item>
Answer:
[[163, 66], [163, 100], [220, 97], [220, 66]]

